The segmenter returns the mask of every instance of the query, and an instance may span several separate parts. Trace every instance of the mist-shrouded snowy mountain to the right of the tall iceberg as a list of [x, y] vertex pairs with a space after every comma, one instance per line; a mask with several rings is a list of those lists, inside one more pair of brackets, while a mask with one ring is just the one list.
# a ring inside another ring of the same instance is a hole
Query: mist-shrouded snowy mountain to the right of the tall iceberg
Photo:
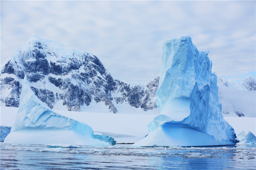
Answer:
[[256, 83], [253, 75], [240, 83], [230, 83], [221, 76], [218, 77], [217, 85], [224, 116], [256, 116]]

